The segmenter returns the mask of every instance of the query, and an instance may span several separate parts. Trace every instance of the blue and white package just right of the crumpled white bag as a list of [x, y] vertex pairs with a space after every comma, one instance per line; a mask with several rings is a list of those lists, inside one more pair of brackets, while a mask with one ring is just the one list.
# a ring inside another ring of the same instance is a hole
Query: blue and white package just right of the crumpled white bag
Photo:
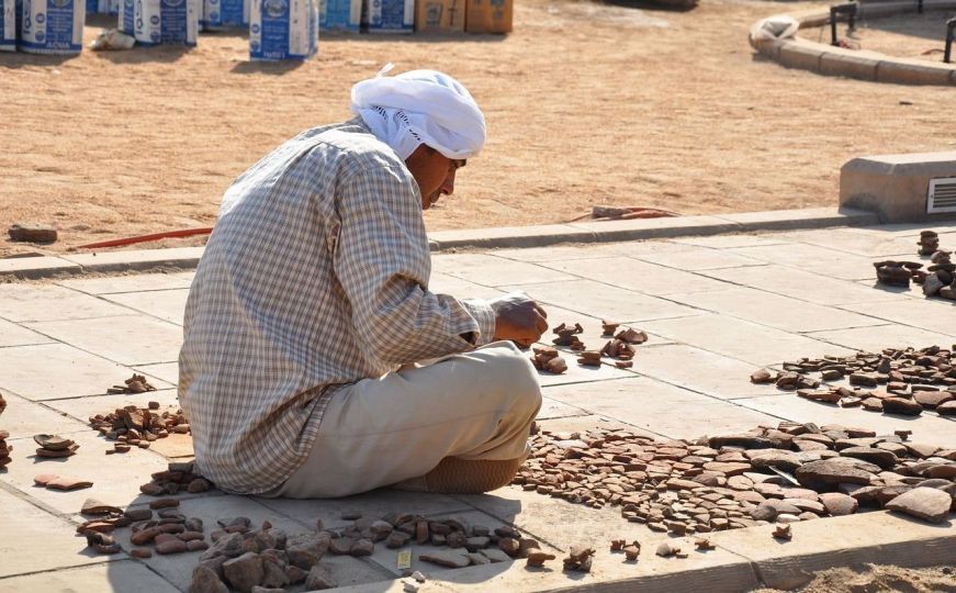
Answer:
[[[139, 45], [195, 46], [201, 0], [134, 0], [133, 36]], [[123, 7], [120, 27], [125, 33], [128, 7]]]

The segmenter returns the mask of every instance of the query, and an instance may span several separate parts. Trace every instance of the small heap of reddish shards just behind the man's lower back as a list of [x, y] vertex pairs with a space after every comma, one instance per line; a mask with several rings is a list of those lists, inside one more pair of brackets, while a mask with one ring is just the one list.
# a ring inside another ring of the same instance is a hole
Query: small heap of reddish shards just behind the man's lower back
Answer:
[[166, 438], [170, 433], [190, 433], [189, 422], [182, 410], [159, 412], [159, 402], [149, 402], [147, 407], [127, 405], [109, 414], [90, 416], [90, 426], [106, 439], [116, 441], [108, 454], [126, 452], [131, 447], [147, 449], [150, 443]]

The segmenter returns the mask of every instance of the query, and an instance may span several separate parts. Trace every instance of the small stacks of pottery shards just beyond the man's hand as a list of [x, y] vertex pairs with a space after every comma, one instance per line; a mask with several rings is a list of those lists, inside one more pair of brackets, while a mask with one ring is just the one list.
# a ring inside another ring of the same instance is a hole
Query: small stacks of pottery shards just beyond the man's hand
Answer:
[[[555, 346], [564, 346], [577, 354], [577, 363], [582, 367], [600, 367], [604, 357], [615, 359], [615, 366], [619, 369], [630, 368], [633, 362], [631, 359], [637, 351], [634, 345], [643, 344], [648, 340], [648, 334], [626, 327], [618, 332], [620, 324], [616, 322], [603, 321], [601, 337], [609, 339], [600, 350], [588, 350], [587, 346], [581, 342], [578, 334], [584, 333], [584, 327], [580, 323], [570, 324], [562, 323], [554, 327], [553, 332], [558, 335], [552, 343]], [[556, 348], [548, 346], [532, 348], [531, 363], [540, 371], [553, 373], [563, 373], [567, 370], [567, 363], [561, 358], [561, 354]]]

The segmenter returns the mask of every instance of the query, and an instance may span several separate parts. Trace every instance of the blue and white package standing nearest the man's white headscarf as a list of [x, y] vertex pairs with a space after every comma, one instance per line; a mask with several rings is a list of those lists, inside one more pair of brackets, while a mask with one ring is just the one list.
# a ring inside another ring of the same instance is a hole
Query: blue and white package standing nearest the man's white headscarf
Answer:
[[249, 58], [308, 59], [318, 51], [314, 0], [252, 0]]

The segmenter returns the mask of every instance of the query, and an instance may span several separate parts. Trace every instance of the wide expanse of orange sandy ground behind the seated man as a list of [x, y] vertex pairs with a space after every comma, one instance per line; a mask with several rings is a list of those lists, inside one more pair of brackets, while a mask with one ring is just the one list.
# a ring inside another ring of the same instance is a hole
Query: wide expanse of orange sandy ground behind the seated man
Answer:
[[[952, 89], [826, 78], [754, 55], [756, 20], [810, 5], [519, 0], [506, 37], [326, 35], [302, 65], [249, 63], [239, 34], [204, 34], [191, 52], [0, 54], [0, 225], [54, 224], [53, 251], [210, 226], [238, 174], [348, 118], [351, 85], [386, 61], [453, 74], [488, 120], [486, 149], [428, 213], [431, 230], [562, 222], [593, 204], [831, 205], [854, 156], [954, 149]], [[99, 31], [88, 26], [87, 41]], [[35, 249], [0, 243], [0, 255]]]

